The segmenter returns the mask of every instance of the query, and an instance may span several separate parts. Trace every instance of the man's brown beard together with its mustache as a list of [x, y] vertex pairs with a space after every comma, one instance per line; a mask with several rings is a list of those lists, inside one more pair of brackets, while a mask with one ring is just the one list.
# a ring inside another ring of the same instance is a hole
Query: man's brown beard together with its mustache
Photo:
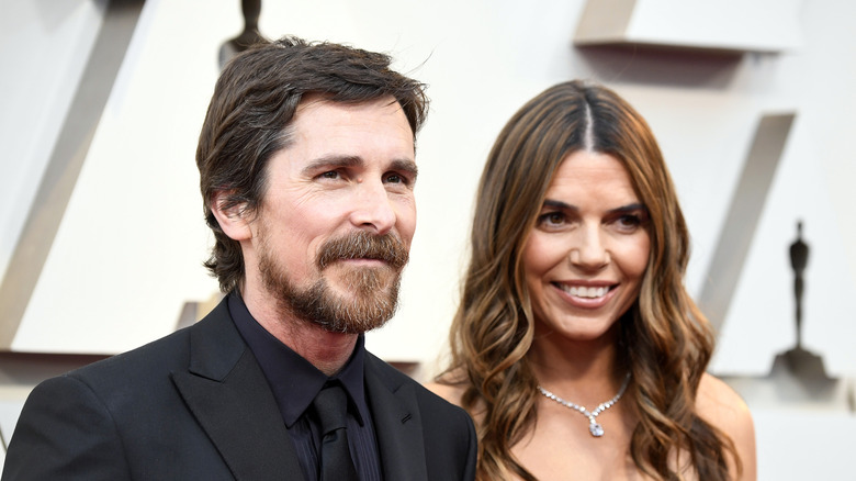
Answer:
[[322, 276], [305, 290], [297, 288], [268, 248], [264, 230], [260, 233], [259, 270], [269, 293], [277, 298], [280, 311], [329, 332], [362, 334], [392, 318], [398, 306], [402, 269], [408, 254], [392, 234], [375, 236], [358, 232], [324, 243], [317, 254], [319, 272], [342, 259], [380, 259], [382, 267], [345, 268], [341, 280], [350, 299], [334, 292]]

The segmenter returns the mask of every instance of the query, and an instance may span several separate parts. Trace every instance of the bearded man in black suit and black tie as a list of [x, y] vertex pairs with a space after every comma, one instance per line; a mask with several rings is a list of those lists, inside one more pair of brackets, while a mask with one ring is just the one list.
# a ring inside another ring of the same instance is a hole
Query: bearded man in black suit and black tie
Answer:
[[426, 108], [387, 56], [341, 45], [283, 38], [227, 65], [196, 152], [227, 295], [40, 384], [3, 481], [473, 479], [469, 416], [363, 347], [396, 306]]

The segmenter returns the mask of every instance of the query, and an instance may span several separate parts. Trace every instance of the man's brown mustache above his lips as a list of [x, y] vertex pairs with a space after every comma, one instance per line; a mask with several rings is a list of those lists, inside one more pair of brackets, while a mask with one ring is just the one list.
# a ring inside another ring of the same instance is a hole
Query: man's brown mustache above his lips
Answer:
[[318, 253], [318, 268], [324, 269], [342, 259], [378, 259], [401, 269], [407, 264], [409, 253], [404, 243], [392, 234], [358, 232], [324, 243]]

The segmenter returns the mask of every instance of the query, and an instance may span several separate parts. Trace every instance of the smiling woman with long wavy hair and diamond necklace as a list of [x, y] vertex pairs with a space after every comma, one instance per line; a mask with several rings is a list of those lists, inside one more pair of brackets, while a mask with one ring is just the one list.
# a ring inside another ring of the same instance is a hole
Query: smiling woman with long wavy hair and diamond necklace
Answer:
[[431, 388], [473, 415], [478, 479], [755, 478], [748, 410], [705, 373], [675, 188], [624, 100], [571, 81], [523, 105], [487, 159], [471, 248]]

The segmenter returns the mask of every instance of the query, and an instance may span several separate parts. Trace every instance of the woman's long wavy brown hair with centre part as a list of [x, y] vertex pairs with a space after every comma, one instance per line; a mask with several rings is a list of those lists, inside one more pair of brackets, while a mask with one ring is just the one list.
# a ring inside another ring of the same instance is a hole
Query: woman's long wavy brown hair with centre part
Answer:
[[725, 480], [725, 454], [740, 465], [734, 445], [695, 411], [713, 335], [683, 283], [689, 239], [675, 188], [642, 116], [611, 90], [583, 81], [551, 87], [523, 105], [482, 175], [451, 365], [438, 378], [462, 383], [462, 403], [480, 420], [478, 479], [536, 479], [510, 450], [537, 415], [537, 379], [527, 358], [533, 317], [520, 253], [553, 172], [582, 148], [624, 165], [651, 219], [639, 299], [620, 321], [620, 361], [633, 379], [626, 399], [640, 416], [630, 455], [654, 479], [682, 479], [678, 456], [700, 479]]

